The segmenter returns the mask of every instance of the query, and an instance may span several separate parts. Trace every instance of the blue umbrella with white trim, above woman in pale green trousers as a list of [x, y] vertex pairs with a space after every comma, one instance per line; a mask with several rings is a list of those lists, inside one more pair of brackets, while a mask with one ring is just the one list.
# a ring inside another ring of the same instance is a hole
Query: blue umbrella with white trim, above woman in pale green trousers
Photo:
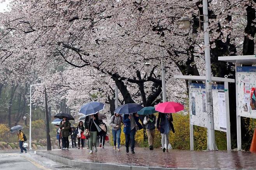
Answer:
[[104, 109], [105, 104], [101, 102], [90, 102], [81, 107], [79, 113], [88, 116]]

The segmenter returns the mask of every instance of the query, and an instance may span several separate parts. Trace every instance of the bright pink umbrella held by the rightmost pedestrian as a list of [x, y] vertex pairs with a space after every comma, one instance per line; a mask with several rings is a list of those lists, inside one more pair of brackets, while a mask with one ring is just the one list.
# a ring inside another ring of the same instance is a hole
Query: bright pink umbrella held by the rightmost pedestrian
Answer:
[[176, 113], [184, 110], [184, 106], [176, 102], [163, 102], [157, 104], [155, 110], [161, 113]]

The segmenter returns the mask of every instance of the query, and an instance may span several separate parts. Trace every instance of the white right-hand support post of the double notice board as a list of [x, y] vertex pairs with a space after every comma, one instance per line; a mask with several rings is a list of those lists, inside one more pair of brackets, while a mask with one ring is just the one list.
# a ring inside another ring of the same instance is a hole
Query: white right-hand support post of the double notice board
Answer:
[[228, 98], [228, 82], [224, 82], [224, 93], [226, 101], [226, 124], [227, 124], [227, 150], [231, 150], [231, 134], [230, 134], [230, 113], [229, 113], [229, 98]]

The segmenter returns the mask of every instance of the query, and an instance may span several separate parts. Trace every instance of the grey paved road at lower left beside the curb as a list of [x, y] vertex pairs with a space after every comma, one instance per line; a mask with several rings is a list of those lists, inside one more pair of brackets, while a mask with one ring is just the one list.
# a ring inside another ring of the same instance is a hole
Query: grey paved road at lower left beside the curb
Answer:
[[0, 170], [80, 170], [28, 153], [0, 153]]

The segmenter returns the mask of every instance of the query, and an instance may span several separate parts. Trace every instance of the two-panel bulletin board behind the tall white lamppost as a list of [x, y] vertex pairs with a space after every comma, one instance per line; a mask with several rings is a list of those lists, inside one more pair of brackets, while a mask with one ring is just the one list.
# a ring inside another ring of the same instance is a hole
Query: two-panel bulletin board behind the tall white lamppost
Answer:
[[[189, 84], [190, 118], [193, 125], [208, 127], [208, 116], [206, 113], [205, 84]], [[226, 132], [226, 100], [224, 85], [212, 85], [214, 129]], [[228, 107], [228, 106], [227, 106]]]

